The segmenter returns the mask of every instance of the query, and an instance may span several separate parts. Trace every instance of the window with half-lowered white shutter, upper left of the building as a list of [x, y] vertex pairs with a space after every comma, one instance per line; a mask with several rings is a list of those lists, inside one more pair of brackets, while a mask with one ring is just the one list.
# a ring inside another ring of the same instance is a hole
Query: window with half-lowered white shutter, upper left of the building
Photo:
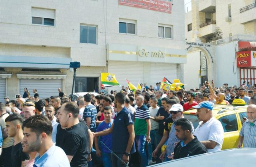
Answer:
[[32, 7], [32, 24], [54, 26], [55, 10]]

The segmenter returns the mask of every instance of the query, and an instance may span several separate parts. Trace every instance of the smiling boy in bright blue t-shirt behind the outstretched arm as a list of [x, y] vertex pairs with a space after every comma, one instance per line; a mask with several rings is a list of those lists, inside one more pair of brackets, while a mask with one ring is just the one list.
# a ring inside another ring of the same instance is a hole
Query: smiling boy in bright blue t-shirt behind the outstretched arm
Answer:
[[[113, 119], [111, 118], [113, 113], [110, 106], [106, 106], [104, 108], [103, 115], [105, 120], [98, 125], [97, 132], [109, 129], [113, 123]], [[104, 146], [100, 141], [102, 141], [107, 147]], [[104, 167], [111, 167], [111, 151], [109, 151], [109, 149], [112, 149], [112, 133], [100, 137], [100, 140], [98, 139], [98, 137], [95, 137], [94, 143], [96, 148], [96, 154], [102, 157]]]

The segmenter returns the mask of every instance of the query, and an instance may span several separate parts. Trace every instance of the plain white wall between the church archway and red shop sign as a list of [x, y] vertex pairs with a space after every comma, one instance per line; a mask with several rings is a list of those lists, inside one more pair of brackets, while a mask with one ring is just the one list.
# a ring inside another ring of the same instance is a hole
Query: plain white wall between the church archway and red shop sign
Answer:
[[[223, 86], [228, 83], [229, 86], [240, 85], [239, 68], [236, 69], [235, 46], [237, 41], [216, 46], [217, 61], [217, 83], [216, 86]], [[238, 44], [237, 44], [238, 48]], [[233, 67], [236, 73], [233, 72]]]

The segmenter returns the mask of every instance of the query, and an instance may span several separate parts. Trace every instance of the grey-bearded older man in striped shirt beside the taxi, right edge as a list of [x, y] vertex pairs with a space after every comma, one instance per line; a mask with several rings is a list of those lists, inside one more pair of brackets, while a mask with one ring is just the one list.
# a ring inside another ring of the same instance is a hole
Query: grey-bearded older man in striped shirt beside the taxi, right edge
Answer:
[[256, 148], [256, 105], [250, 104], [247, 107], [247, 120], [243, 123], [239, 134], [239, 143], [237, 147], [253, 147]]

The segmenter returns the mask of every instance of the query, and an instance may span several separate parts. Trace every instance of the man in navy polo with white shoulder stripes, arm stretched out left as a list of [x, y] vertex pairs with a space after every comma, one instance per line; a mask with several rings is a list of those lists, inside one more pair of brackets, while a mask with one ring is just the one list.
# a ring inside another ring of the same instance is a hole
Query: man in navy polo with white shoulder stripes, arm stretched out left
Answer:
[[112, 154], [112, 167], [126, 167], [129, 163], [130, 155], [135, 152], [133, 115], [125, 107], [125, 98], [125, 94], [121, 92], [115, 96], [115, 107], [118, 114], [111, 128], [93, 133], [94, 136], [103, 136], [112, 133], [112, 151], [126, 163], [123, 164], [123, 162]]

